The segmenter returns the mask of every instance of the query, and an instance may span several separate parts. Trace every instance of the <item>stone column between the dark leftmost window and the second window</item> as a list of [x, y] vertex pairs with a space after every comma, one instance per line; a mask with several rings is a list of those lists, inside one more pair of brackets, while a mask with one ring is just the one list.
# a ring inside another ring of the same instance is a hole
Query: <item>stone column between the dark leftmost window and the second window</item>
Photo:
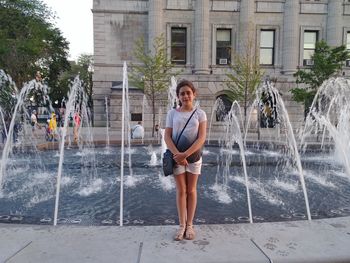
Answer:
[[196, 0], [194, 30], [194, 72], [209, 74], [209, 0]]

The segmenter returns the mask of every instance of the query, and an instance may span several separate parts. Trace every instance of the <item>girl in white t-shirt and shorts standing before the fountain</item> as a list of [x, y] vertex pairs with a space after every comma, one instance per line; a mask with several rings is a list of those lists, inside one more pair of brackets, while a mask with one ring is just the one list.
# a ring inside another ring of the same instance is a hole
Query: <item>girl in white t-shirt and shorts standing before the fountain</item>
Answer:
[[[194, 107], [196, 89], [192, 82], [181, 81], [176, 87], [176, 95], [180, 107], [167, 114], [164, 140], [176, 162], [173, 173], [180, 227], [174, 239], [179, 241], [195, 238], [193, 218], [197, 206], [197, 180], [201, 173], [201, 149], [206, 137], [207, 116], [203, 110]], [[189, 118], [191, 119], [183, 130]]]

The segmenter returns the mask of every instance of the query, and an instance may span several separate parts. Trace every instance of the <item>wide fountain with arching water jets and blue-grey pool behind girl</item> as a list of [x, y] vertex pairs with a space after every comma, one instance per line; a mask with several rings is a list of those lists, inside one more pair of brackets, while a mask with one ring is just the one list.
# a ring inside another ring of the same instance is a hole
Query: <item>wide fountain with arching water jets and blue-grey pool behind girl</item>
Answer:
[[[123, 76], [121, 136], [125, 143], [120, 148], [110, 145], [107, 154], [94, 146], [79, 78], [74, 80], [66, 102], [59, 147], [38, 150], [10, 144], [13, 140], [8, 139], [9, 146], [4, 145], [2, 153], [0, 222], [120, 226], [177, 222], [174, 179], [162, 176], [157, 160], [165, 149], [163, 140], [152, 147], [130, 144], [130, 122], [125, 116], [129, 112], [126, 64]], [[175, 86], [173, 79], [172, 91]], [[282, 98], [269, 83], [261, 87], [258, 98], [265, 91], [276, 99], [281, 132], [274, 141], [247, 141], [248, 124], [242, 128], [239, 106], [233, 103], [225, 128], [215, 134], [220, 143], [211, 138], [204, 148], [195, 222], [255, 223], [349, 216], [350, 147], [344, 143], [350, 141], [349, 87], [344, 79], [332, 79], [322, 86], [304, 133], [297, 140]], [[25, 85], [17, 98], [25, 98], [25, 90], [33, 89], [34, 82]], [[19, 100], [14, 109], [23, 111]], [[171, 107], [174, 97], [169, 101]], [[259, 107], [259, 103], [254, 106]], [[77, 109], [83, 128], [79, 141], [67, 149], [66, 138], [71, 132], [68, 118]], [[22, 125], [27, 126], [27, 122], [23, 119]], [[30, 130], [23, 136], [32, 138]], [[322, 141], [315, 144], [312, 139], [319, 134]], [[302, 144], [297, 144], [299, 141]]]

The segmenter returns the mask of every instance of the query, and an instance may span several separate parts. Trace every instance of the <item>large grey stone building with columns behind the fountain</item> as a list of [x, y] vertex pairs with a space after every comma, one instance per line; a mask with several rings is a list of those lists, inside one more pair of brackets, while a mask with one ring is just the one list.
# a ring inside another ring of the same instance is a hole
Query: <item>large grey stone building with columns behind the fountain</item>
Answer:
[[[200, 106], [211, 116], [233, 52], [243, 52], [251, 38], [265, 77], [277, 80], [294, 127], [302, 123], [303, 106], [291, 100], [293, 73], [312, 65], [315, 42], [346, 44], [350, 50], [350, 0], [94, 0], [94, 121], [106, 124], [106, 98], [112, 128], [120, 127], [123, 62], [134, 61], [135, 41], [150, 46], [163, 34], [179, 78], [192, 80]], [[250, 31], [252, 29], [252, 31]], [[349, 75], [350, 61], [344, 68]], [[151, 130], [143, 94], [130, 88], [132, 121]], [[159, 111], [164, 125], [166, 107]], [[143, 113], [143, 114], [142, 114]], [[214, 127], [220, 122], [214, 120]]]

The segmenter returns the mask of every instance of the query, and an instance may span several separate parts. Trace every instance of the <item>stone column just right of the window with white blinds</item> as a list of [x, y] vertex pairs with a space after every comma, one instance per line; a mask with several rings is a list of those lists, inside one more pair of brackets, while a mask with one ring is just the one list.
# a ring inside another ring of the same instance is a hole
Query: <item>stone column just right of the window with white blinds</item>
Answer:
[[299, 1], [286, 0], [283, 18], [282, 74], [293, 75], [299, 61]]

